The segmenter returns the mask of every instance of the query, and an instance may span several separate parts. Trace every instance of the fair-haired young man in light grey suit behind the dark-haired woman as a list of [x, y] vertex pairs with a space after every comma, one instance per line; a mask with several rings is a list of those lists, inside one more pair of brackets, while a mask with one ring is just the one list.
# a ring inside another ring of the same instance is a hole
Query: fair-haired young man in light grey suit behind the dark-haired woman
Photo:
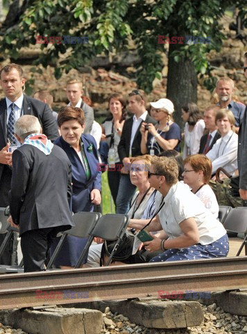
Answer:
[[77, 106], [78, 108], [83, 109], [85, 115], [84, 134], [90, 134], [94, 122], [94, 109], [83, 102], [83, 99], [81, 98], [83, 96], [83, 83], [78, 79], [67, 81], [66, 93], [69, 100], [69, 106]]

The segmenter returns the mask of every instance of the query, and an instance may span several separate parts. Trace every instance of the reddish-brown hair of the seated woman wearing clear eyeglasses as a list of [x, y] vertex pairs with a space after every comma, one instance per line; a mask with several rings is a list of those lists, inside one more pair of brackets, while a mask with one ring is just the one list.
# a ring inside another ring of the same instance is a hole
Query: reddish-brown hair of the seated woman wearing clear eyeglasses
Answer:
[[198, 173], [203, 172], [203, 182], [208, 184], [212, 175], [212, 162], [204, 154], [189, 155], [184, 159], [184, 165], [190, 164], [192, 169]]

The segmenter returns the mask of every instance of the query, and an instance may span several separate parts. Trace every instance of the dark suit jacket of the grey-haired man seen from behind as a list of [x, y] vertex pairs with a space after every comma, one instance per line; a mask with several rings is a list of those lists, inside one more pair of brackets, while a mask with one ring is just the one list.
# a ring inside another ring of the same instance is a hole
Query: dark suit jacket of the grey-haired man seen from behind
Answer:
[[20, 234], [74, 226], [71, 193], [71, 164], [61, 148], [53, 145], [46, 155], [33, 145], [22, 145], [13, 152], [10, 213]]

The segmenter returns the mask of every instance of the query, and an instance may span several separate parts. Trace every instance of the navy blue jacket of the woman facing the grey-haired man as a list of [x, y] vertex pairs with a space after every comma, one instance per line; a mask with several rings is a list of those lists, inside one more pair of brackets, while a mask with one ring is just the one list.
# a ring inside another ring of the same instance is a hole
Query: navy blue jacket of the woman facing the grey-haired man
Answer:
[[96, 141], [90, 134], [83, 134], [81, 140], [83, 141], [85, 155], [91, 170], [90, 180], [87, 180], [85, 169], [76, 150], [71, 148], [71, 146], [64, 141], [62, 136], [54, 142], [54, 144], [65, 150], [72, 165], [72, 211], [74, 213], [93, 211], [94, 205], [92, 205], [90, 193], [93, 189], [101, 190], [101, 168]]

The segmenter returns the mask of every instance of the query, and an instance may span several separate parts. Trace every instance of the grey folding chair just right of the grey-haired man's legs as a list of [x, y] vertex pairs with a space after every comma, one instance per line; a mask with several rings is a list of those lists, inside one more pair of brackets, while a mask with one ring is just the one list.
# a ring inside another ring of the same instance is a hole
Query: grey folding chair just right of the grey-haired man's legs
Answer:
[[68, 235], [73, 235], [74, 237], [79, 238], [90, 237], [90, 232], [92, 232], [100, 217], [101, 214], [99, 212], [77, 212], [74, 214], [74, 228], [71, 228], [71, 230], [67, 230], [62, 233], [62, 237], [60, 238], [60, 241], [58, 242], [53, 255], [51, 255], [46, 269], [51, 269]]

